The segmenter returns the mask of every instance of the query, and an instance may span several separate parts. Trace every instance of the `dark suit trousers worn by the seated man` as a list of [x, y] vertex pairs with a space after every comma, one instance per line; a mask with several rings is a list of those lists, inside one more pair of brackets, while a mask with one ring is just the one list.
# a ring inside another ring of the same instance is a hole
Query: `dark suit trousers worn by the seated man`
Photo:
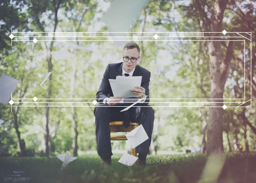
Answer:
[[[125, 106], [128, 106], [125, 104]], [[125, 107], [116, 105], [108, 106], [99, 104], [94, 109], [96, 124], [97, 151], [101, 158], [113, 155], [111, 151], [110, 127], [111, 121], [123, 121], [122, 112]], [[131, 107], [129, 110], [130, 121], [142, 124], [148, 135], [148, 140], [136, 147], [136, 152], [145, 154], [149, 152], [151, 136], [154, 126], [154, 110], [149, 105]]]

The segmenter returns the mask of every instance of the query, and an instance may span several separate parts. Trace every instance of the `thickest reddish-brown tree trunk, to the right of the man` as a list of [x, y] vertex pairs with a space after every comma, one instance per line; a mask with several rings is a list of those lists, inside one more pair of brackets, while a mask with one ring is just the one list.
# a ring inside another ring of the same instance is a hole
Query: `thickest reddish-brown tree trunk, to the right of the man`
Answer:
[[[222, 20], [224, 10], [228, 1], [215, 0], [215, 5], [212, 10], [211, 31], [222, 32]], [[212, 36], [220, 36], [220, 33], [213, 33]], [[209, 57], [211, 62], [211, 103], [209, 107], [209, 121], [207, 126], [207, 154], [219, 154], [224, 151], [222, 138], [222, 115], [223, 115], [223, 93], [224, 86], [227, 81], [228, 71], [230, 66], [231, 56], [233, 55], [233, 42], [230, 42], [227, 49], [226, 59], [224, 59], [221, 42], [214, 41], [212, 38], [209, 41]], [[213, 100], [220, 99], [220, 100]]]

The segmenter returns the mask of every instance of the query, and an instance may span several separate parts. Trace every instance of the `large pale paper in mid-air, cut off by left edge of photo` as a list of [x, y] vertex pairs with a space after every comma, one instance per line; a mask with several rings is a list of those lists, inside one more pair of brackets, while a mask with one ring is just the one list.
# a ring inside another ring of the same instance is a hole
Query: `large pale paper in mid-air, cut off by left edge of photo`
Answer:
[[19, 81], [6, 74], [0, 77], [0, 103], [7, 105]]

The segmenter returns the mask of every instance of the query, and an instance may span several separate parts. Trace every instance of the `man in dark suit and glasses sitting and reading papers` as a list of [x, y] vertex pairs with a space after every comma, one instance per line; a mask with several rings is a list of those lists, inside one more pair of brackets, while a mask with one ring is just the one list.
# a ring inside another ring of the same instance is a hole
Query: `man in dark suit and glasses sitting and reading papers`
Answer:
[[[140, 65], [137, 65], [139, 60], [139, 45], [135, 42], [128, 42], [123, 48], [123, 62], [108, 64], [99, 90], [96, 93], [96, 99], [101, 103], [94, 109], [97, 151], [104, 163], [108, 165], [111, 164], [111, 156], [113, 155], [111, 152], [109, 123], [111, 121], [124, 121], [124, 126], [127, 128], [129, 122], [132, 121], [142, 124], [148, 135], [148, 140], [136, 147], [136, 152], [139, 153], [138, 163], [145, 166], [153, 132], [154, 110], [148, 105], [150, 72], [140, 67]], [[142, 103], [137, 103], [135, 105], [136, 107], [131, 107], [127, 111], [120, 112], [131, 104], [119, 103], [122, 98], [113, 96], [108, 79], [116, 79], [116, 76], [142, 76], [141, 86], [135, 87], [137, 89], [131, 90], [131, 93], [140, 99], [147, 95], [146, 99], [144, 99]]]

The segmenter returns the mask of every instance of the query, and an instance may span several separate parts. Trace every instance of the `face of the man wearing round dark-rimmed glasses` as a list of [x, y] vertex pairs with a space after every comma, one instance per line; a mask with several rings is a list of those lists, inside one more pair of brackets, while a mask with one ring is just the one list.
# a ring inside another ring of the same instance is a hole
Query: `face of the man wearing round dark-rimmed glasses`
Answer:
[[[140, 59], [140, 53], [138, 52], [137, 48], [127, 49], [125, 48], [123, 51], [123, 57], [128, 57], [129, 61], [125, 62], [123, 60], [123, 65], [126, 72], [131, 72], [137, 65], [139, 59]], [[139, 58], [138, 58], [139, 57]], [[138, 58], [138, 59], [137, 59]], [[131, 62], [131, 59], [137, 59], [136, 62]]]

